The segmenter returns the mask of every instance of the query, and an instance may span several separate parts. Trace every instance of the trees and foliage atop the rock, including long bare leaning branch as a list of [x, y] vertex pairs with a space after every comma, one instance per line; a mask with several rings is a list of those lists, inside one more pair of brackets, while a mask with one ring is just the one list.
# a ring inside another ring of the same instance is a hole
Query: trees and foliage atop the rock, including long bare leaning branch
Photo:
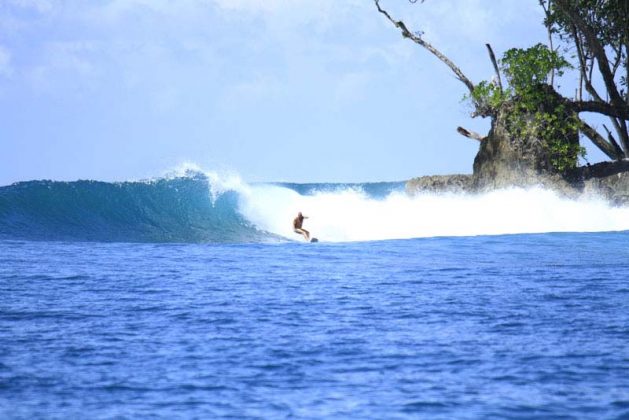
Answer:
[[[466, 97], [474, 107], [472, 116], [492, 119], [490, 136], [459, 127], [461, 134], [483, 142], [504, 128], [501, 132], [506, 132], [512, 148], [518, 149], [518, 159], [528, 159], [538, 171], [565, 174], [575, 168], [578, 156], [584, 154], [577, 133], [612, 160], [629, 158], [629, 0], [538, 0], [546, 16], [543, 23], [549, 45], [511, 49], [496, 60], [487, 44], [496, 76], [479, 83], [473, 83], [421, 32], [411, 32], [403, 21], [394, 19], [381, 1], [374, 0], [378, 11], [402, 36], [435, 55], [466, 86]], [[558, 45], [554, 45], [555, 38]], [[560, 52], [571, 53], [576, 62], [570, 63]], [[582, 89], [573, 98], [554, 89], [555, 75], [571, 69], [577, 70], [587, 98]], [[584, 113], [608, 117], [614, 133], [603, 125], [606, 135], [601, 134], [588, 124]], [[475, 162], [475, 172], [476, 168]]]

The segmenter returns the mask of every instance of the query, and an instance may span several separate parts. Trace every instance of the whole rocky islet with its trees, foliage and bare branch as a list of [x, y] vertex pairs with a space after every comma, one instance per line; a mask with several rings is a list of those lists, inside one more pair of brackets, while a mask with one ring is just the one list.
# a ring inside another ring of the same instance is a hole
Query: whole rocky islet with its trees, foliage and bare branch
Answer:
[[[465, 85], [471, 117], [491, 119], [487, 135], [457, 128], [479, 142], [472, 174], [414, 178], [406, 184], [408, 193], [542, 186], [572, 198], [599, 195], [629, 205], [629, 2], [538, 1], [547, 45], [511, 48], [497, 59], [486, 44], [495, 75], [474, 83], [422, 31], [409, 30], [383, 8], [383, 0], [374, 0], [404, 38], [443, 62]], [[577, 86], [573, 96], [559, 92], [562, 77]], [[582, 141], [609, 160], [590, 164]]]

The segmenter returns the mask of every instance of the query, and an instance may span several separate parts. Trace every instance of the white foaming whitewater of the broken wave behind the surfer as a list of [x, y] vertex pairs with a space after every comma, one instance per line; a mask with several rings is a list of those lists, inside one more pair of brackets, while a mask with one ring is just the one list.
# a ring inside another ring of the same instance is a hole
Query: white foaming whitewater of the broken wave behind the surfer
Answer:
[[398, 192], [374, 199], [356, 189], [304, 196], [279, 186], [250, 186], [241, 190], [239, 210], [258, 228], [297, 240], [292, 220], [301, 211], [310, 217], [304, 228], [330, 242], [629, 230], [629, 208], [539, 188], [415, 197]]

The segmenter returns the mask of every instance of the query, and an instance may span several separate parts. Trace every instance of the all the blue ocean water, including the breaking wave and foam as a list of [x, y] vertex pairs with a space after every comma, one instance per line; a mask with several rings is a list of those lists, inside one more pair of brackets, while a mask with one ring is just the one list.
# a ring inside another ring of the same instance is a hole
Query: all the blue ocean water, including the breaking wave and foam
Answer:
[[0, 187], [0, 417], [628, 418], [628, 245], [541, 189]]

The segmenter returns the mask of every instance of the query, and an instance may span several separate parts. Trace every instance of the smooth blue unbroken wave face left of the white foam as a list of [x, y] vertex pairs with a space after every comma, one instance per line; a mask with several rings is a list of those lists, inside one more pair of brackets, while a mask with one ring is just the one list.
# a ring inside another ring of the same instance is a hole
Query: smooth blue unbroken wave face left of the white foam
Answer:
[[204, 174], [140, 182], [30, 181], [0, 188], [0, 234], [29, 240], [245, 242], [260, 232], [238, 194]]

